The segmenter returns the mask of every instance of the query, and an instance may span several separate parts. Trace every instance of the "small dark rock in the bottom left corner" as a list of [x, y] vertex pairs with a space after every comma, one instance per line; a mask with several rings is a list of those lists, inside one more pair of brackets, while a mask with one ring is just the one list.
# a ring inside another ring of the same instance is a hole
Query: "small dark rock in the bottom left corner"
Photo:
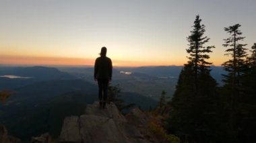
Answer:
[[8, 133], [7, 133], [7, 130], [5, 129], [5, 126], [0, 124], [0, 142], [18, 143], [18, 142], [20, 142], [20, 139], [15, 138], [13, 136], [8, 136]]

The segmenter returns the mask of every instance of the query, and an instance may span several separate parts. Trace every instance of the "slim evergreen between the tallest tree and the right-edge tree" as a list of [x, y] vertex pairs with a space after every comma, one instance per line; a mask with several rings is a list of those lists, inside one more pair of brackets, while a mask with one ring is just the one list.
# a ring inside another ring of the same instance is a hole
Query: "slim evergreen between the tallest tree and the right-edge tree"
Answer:
[[224, 76], [224, 89], [226, 95], [228, 96], [228, 108], [229, 108], [229, 128], [233, 132], [233, 136], [236, 136], [236, 114], [238, 111], [238, 100], [239, 97], [244, 93], [245, 87], [243, 86], [243, 76], [247, 72], [247, 63], [246, 63], [246, 48], [243, 48], [247, 44], [241, 44], [241, 41], [245, 37], [242, 37], [242, 32], [239, 30], [241, 27], [240, 24], [235, 24], [234, 26], [229, 26], [224, 28], [228, 34], [229, 38], [224, 39], [225, 44], [223, 46], [228, 47], [226, 54], [231, 56], [231, 59], [224, 62], [224, 70], [226, 70], [227, 75]]

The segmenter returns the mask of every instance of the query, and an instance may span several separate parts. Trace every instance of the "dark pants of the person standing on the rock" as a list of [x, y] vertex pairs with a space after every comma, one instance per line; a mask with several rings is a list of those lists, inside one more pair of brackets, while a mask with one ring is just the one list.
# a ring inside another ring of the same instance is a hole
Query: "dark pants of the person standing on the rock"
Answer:
[[108, 97], [108, 79], [98, 79], [98, 99], [106, 102]]

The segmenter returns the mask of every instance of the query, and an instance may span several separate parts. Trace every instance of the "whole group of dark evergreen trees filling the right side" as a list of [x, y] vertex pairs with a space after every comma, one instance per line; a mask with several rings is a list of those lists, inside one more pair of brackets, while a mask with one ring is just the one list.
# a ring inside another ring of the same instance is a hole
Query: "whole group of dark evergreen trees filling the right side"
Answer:
[[208, 61], [215, 46], [206, 46], [205, 26], [196, 15], [187, 37], [188, 61], [179, 75], [166, 129], [183, 142], [255, 142], [256, 43], [245, 48], [240, 24], [224, 28], [224, 49], [229, 59], [219, 87]]

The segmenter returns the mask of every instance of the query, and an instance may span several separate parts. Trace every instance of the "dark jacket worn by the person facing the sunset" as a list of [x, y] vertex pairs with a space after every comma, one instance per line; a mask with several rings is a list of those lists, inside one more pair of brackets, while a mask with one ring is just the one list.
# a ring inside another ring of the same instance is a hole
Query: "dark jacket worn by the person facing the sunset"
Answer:
[[108, 79], [112, 78], [112, 61], [106, 56], [96, 58], [94, 64], [94, 79]]

